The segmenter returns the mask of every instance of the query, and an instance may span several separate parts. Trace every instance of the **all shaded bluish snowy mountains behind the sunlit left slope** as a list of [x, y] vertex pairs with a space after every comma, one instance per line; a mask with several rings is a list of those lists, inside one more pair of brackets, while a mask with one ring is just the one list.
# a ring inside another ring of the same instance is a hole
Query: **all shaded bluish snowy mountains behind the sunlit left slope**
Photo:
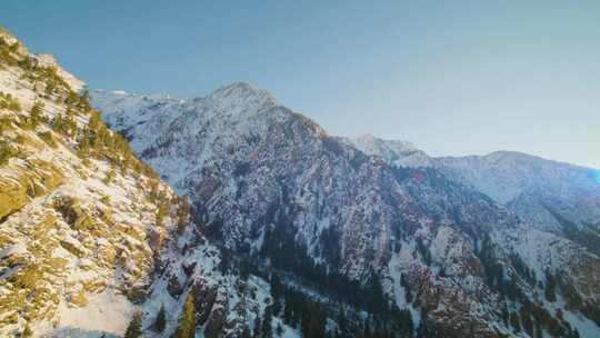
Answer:
[[[590, 169], [513, 153], [431, 158], [403, 141], [332, 137], [243, 82], [190, 100], [91, 97], [190, 198], [212, 242], [321, 304], [330, 334], [600, 332]], [[286, 314], [289, 298], [274, 301]]]

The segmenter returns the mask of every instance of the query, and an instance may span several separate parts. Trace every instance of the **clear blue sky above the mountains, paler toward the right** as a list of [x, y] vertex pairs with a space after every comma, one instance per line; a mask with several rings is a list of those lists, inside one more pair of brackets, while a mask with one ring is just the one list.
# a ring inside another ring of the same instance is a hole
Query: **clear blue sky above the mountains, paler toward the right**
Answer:
[[600, 168], [600, 1], [2, 0], [92, 89], [269, 90], [330, 135]]

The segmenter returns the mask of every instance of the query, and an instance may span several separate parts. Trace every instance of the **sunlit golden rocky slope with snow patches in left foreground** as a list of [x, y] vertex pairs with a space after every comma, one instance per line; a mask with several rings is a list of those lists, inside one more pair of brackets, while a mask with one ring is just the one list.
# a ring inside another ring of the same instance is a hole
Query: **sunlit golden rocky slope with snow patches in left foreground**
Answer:
[[203, 337], [241, 337], [269, 284], [207, 240], [82, 86], [0, 30], [0, 336], [121, 337], [140, 314], [144, 337], [193, 317]]

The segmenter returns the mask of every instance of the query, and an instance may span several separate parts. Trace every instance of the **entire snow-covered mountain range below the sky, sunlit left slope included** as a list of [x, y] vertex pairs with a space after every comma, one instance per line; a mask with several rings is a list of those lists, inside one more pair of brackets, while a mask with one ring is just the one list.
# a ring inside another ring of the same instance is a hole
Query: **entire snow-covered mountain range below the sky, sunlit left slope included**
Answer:
[[596, 170], [83, 86], [0, 29], [1, 336], [600, 335]]

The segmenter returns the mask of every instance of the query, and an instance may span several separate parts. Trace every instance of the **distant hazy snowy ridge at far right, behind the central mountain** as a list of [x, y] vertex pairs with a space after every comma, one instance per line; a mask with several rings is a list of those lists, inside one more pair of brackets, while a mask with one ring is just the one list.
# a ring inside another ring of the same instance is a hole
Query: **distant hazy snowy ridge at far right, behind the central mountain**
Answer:
[[346, 140], [392, 166], [436, 168], [491, 197], [537, 229], [600, 254], [599, 170], [514, 151], [433, 158], [397, 147], [401, 141], [374, 137]]

